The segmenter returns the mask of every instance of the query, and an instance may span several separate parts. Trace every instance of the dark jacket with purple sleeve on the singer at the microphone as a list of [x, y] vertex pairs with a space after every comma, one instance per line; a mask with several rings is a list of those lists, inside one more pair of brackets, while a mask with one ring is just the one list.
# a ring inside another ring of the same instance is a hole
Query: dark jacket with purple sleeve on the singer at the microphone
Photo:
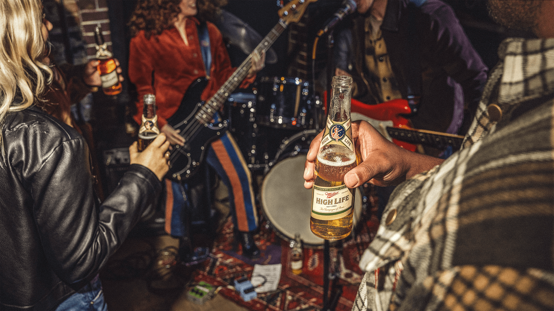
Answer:
[[[414, 127], [465, 134], [475, 115], [488, 68], [448, 4], [439, 0], [417, 2], [387, 3], [381, 31], [395, 82], [404, 99], [408, 96], [408, 85], [417, 85], [414, 88], [420, 102], [417, 113], [411, 116]], [[375, 88], [371, 79], [376, 76], [368, 72], [364, 63], [365, 17], [353, 15], [351, 34], [347, 31], [337, 36], [336, 65], [353, 75], [360, 89], [357, 99], [375, 105], [370, 92]], [[418, 64], [410, 63], [414, 59], [419, 59]], [[417, 83], [409, 78], [409, 72], [416, 72], [412, 76], [419, 78]]]

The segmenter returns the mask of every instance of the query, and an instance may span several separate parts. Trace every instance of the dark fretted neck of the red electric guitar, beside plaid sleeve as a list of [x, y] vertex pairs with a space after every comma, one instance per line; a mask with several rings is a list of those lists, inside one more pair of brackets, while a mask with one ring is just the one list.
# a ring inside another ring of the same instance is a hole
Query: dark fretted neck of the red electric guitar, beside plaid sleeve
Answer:
[[399, 141], [413, 144], [424, 144], [435, 148], [446, 148], [452, 146], [455, 150], [461, 147], [464, 137], [461, 135], [427, 131], [425, 129], [406, 129], [387, 127], [388, 134]]

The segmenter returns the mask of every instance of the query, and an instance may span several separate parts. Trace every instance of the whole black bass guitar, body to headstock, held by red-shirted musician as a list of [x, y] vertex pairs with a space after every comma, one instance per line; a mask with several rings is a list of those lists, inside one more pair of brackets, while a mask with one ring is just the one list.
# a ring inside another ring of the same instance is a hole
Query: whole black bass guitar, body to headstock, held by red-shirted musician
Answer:
[[261, 40], [254, 51], [247, 56], [243, 63], [225, 81], [211, 99], [200, 100], [203, 90], [208, 84], [206, 78], [197, 79], [188, 87], [177, 111], [167, 119], [167, 123], [180, 130], [184, 138], [184, 146], [173, 146], [170, 151], [170, 169], [166, 175], [172, 180], [186, 180], [197, 172], [203, 162], [209, 143], [222, 136], [227, 131], [227, 121], [213, 123], [214, 114], [223, 107], [229, 95], [239, 86], [247, 76], [252, 66], [252, 55], [267, 51], [283, 30], [290, 23], [299, 22], [311, 2], [317, 0], [294, 0], [286, 4], [278, 12], [279, 23], [271, 29], [268, 35]]

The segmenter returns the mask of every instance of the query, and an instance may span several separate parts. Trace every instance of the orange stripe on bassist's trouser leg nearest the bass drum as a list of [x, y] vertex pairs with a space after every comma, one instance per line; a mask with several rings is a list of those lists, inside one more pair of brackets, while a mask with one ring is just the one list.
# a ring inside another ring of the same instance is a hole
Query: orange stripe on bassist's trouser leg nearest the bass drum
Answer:
[[239, 231], [247, 232], [248, 231], [248, 218], [246, 215], [246, 208], [244, 206], [244, 197], [242, 191], [242, 185], [240, 184], [239, 175], [234, 169], [233, 162], [225, 150], [225, 146], [220, 139], [212, 143], [213, 151], [216, 153], [219, 162], [223, 166], [227, 177], [229, 177], [229, 182], [233, 185], [233, 197], [235, 203], [235, 214], [237, 215], [237, 224]]

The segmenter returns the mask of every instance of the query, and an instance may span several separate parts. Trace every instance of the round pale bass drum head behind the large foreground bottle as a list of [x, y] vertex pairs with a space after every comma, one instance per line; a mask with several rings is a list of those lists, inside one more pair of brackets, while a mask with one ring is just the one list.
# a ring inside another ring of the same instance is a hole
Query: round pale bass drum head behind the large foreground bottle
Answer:
[[[286, 158], [274, 165], [261, 186], [261, 208], [276, 233], [285, 240], [300, 234], [305, 247], [321, 248], [324, 239], [310, 230], [312, 190], [304, 188], [306, 154]], [[362, 214], [362, 194], [356, 188], [353, 226]]]

